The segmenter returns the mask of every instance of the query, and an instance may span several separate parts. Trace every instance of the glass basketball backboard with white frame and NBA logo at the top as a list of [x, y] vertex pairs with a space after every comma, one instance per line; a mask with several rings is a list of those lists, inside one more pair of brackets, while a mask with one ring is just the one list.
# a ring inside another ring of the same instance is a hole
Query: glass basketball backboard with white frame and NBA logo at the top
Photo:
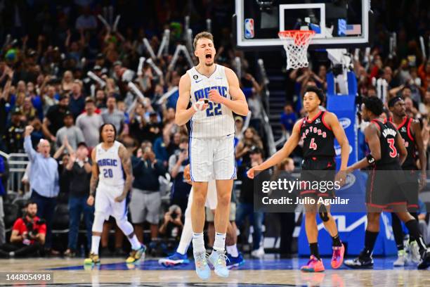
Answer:
[[370, 42], [370, 0], [235, 0], [234, 41], [240, 49], [281, 48], [278, 32], [315, 30], [309, 49]]

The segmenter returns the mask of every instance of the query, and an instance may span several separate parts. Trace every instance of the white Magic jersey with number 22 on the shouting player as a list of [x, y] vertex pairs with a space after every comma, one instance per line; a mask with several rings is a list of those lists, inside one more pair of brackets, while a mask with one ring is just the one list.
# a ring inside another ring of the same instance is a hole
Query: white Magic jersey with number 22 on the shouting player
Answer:
[[[215, 64], [210, 77], [201, 75], [195, 67], [187, 71], [190, 76], [190, 97], [193, 105], [200, 98], [209, 98], [211, 89], [218, 89], [221, 96], [230, 99], [225, 68]], [[214, 138], [234, 134], [235, 120], [232, 111], [221, 103], [209, 101], [206, 110], [198, 111], [190, 120], [190, 136], [193, 138]]]

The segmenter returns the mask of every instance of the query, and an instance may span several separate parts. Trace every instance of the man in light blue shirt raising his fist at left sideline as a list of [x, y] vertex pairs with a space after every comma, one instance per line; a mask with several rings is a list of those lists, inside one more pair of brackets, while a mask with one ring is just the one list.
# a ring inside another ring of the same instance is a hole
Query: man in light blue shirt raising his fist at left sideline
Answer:
[[60, 191], [58, 186], [58, 162], [51, 158], [49, 152], [51, 145], [46, 139], [39, 141], [37, 151], [32, 147], [32, 134], [34, 128], [25, 127], [24, 149], [30, 162], [30, 186], [32, 187], [32, 200], [37, 203], [37, 216], [46, 220], [45, 248], [51, 249], [52, 219]]

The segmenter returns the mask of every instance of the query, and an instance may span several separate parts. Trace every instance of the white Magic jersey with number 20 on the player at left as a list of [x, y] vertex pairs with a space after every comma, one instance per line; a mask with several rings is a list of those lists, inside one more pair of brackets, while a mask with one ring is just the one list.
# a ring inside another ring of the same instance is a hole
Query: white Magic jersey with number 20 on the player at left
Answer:
[[107, 151], [102, 144], [96, 146], [96, 162], [98, 165], [98, 183], [104, 186], [124, 186], [124, 172], [118, 150], [121, 144], [115, 141]]

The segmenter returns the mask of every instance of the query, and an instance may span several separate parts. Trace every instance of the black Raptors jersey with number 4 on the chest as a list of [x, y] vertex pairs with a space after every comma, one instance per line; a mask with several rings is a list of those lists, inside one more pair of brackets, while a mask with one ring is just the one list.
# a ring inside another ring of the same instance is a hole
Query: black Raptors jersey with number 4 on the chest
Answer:
[[333, 158], [336, 155], [334, 134], [324, 121], [326, 113], [320, 110], [312, 120], [309, 120], [308, 117], [303, 119], [300, 135], [303, 139], [304, 158]]

